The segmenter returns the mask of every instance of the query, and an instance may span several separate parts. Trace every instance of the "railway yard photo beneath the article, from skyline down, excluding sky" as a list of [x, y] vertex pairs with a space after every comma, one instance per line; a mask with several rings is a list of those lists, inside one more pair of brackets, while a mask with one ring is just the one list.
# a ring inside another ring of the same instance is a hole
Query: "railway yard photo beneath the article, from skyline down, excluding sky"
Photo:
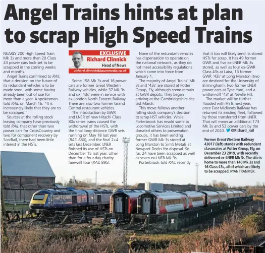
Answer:
[[59, 179], [44, 153], [1, 151], [1, 251], [265, 252], [265, 178], [129, 185], [126, 171], [122, 183], [96, 173]]

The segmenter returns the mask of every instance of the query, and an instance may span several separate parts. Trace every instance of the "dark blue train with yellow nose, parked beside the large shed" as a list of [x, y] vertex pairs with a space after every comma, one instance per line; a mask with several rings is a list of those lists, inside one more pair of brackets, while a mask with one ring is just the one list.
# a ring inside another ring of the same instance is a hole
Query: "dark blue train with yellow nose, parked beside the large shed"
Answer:
[[29, 209], [100, 211], [110, 208], [113, 192], [107, 189], [41, 189], [33, 194]]

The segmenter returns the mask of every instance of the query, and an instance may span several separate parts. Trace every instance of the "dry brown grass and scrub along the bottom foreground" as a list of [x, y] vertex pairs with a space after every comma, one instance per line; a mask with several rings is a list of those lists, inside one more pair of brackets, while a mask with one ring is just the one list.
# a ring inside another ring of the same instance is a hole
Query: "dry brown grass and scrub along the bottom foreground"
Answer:
[[[252, 216], [249, 220], [255, 222]], [[227, 253], [229, 243], [242, 245], [252, 236], [254, 224], [246, 221], [242, 225], [245, 219], [236, 210], [228, 213], [223, 224], [215, 229], [170, 235], [130, 236], [113, 226], [15, 230], [5, 238], [8, 246], [1, 250], [3, 253]]]

